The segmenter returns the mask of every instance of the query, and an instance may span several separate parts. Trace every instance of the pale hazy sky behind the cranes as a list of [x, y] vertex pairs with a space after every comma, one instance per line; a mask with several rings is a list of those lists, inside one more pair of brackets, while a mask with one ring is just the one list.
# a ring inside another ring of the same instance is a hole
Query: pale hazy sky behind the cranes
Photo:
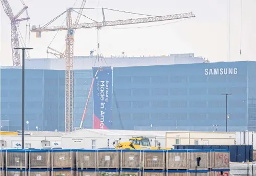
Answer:
[[[23, 7], [20, 0], [8, 0], [16, 15]], [[30, 25], [43, 25], [60, 15], [67, 7], [72, 7], [76, 0], [24, 0], [29, 6]], [[255, 61], [256, 26], [254, 13], [256, 1], [242, 0], [242, 34], [241, 0], [230, 1], [230, 61]], [[82, 0], [77, 0], [78, 8]], [[121, 55], [168, 55], [170, 53], [195, 53], [210, 61], [227, 61], [228, 34], [228, 0], [87, 0], [88, 7], [106, 7], [148, 15], [171, 15], [193, 12], [196, 17], [179, 22], [164, 21], [140, 25], [126, 25], [102, 28], [100, 31], [100, 48], [104, 56]], [[77, 9], [78, 11], [78, 9]], [[85, 9], [84, 15], [102, 20], [101, 10]], [[99, 14], [99, 15], [97, 15]], [[114, 11], [104, 11], [106, 20], [130, 19], [143, 16], [123, 14]], [[73, 22], [77, 14], [73, 13]], [[98, 16], [98, 17], [97, 17]], [[26, 17], [26, 13], [21, 15]], [[65, 15], [50, 26], [60, 26]], [[91, 22], [85, 17], [79, 23]], [[166, 25], [162, 25], [166, 24]], [[65, 23], [64, 23], [65, 25]], [[158, 26], [156, 26], [158, 25]], [[154, 26], [146, 27], [145, 26]], [[25, 40], [26, 21], [20, 22], [19, 29]], [[45, 58], [46, 48], [56, 32], [43, 32], [42, 38], [36, 38], [31, 33], [31, 58]], [[240, 55], [240, 38], [242, 38]], [[28, 37], [27, 37], [28, 40]], [[20, 44], [21, 45], [21, 44]], [[52, 48], [64, 51], [65, 31], [59, 32]], [[75, 33], [74, 55], [89, 55], [90, 50], [97, 46], [97, 31], [95, 29], [78, 29]], [[10, 20], [1, 5], [1, 65], [12, 65], [10, 44]], [[48, 57], [54, 58], [53, 55]]]

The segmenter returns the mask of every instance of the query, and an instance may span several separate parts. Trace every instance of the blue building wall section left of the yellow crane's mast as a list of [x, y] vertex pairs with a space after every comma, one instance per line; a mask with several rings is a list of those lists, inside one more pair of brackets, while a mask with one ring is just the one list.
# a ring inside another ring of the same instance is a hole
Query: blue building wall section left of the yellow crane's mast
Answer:
[[[29, 121], [25, 130], [36, 130], [36, 126], [40, 131], [64, 130], [61, 92], [65, 93], [65, 87], [61, 90], [60, 74], [25, 70], [25, 121]], [[1, 69], [1, 126], [3, 131], [21, 130], [21, 69]]]

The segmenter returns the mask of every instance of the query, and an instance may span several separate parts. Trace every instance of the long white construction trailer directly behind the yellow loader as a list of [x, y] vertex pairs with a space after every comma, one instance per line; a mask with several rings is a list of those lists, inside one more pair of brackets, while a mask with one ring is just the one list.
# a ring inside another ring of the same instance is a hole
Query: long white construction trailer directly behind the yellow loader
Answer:
[[132, 137], [148, 137], [152, 146], [157, 146], [159, 142], [161, 147], [165, 144], [166, 131], [126, 131], [126, 130], [92, 130], [83, 129], [71, 133], [65, 133], [61, 136], [61, 145], [63, 148], [76, 149], [98, 149], [114, 148], [112, 145], [119, 142], [127, 142]]

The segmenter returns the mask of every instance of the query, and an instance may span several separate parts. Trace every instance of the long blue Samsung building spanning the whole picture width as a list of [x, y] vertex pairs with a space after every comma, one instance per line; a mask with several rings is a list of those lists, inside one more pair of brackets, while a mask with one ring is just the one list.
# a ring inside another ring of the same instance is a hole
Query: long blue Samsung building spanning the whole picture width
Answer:
[[[256, 130], [256, 62], [113, 67], [111, 129]], [[64, 131], [65, 71], [26, 69], [25, 128]], [[74, 71], [74, 127], [79, 127], [92, 70]], [[85, 128], [92, 128], [92, 101]], [[1, 130], [21, 129], [21, 69], [1, 68]]]

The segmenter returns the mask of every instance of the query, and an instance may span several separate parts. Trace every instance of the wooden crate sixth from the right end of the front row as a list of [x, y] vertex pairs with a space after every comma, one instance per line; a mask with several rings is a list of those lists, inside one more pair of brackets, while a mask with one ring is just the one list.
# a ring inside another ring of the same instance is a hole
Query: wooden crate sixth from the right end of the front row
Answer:
[[98, 150], [97, 169], [99, 176], [118, 175], [120, 172], [120, 150]]

